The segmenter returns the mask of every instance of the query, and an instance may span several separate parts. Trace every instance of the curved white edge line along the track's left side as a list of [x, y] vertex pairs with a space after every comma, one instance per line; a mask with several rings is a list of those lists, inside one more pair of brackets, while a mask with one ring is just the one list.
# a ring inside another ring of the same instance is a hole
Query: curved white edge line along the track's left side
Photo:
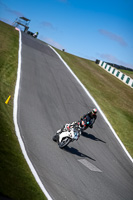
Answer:
[[42, 184], [42, 182], [41, 182], [41, 180], [40, 180], [35, 168], [33, 167], [32, 163], [31, 163], [31, 161], [30, 161], [30, 159], [29, 159], [29, 157], [27, 155], [23, 140], [22, 140], [21, 135], [20, 135], [18, 122], [17, 122], [18, 92], [19, 92], [20, 73], [21, 73], [21, 50], [22, 50], [22, 36], [21, 36], [21, 31], [19, 31], [18, 71], [17, 71], [17, 80], [16, 80], [15, 94], [14, 94], [14, 108], [13, 108], [13, 119], [14, 119], [15, 131], [16, 131], [16, 135], [17, 135], [17, 138], [18, 138], [22, 153], [24, 155], [24, 158], [25, 158], [26, 162], [28, 163], [29, 168], [30, 168], [33, 176], [35, 177], [36, 182], [40, 186], [41, 190], [43, 191], [43, 193], [45, 194], [47, 199], [48, 200], [52, 200], [52, 198], [50, 197], [50, 195], [46, 191], [44, 185]]

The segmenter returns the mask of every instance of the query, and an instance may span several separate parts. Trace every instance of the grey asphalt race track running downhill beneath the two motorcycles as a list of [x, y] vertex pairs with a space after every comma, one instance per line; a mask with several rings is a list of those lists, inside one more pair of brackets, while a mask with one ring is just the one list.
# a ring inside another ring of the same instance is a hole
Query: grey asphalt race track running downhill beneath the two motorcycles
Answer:
[[22, 33], [18, 125], [53, 200], [133, 199], [133, 165], [100, 113], [94, 128], [66, 149], [52, 141], [65, 123], [79, 120], [93, 107], [55, 52]]

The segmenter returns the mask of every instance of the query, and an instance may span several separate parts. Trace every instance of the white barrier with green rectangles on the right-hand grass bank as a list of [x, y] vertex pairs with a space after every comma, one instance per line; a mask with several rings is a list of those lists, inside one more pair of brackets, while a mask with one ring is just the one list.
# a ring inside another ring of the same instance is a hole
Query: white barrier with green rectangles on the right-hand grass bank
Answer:
[[123, 74], [121, 71], [118, 69], [112, 67], [111, 65], [108, 65], [104, 61], [100, 60], [99, 66], [102, 67], [104, 70], [106, 70], [108, 73], [114, 75], [116, 78], [124, 82], [126, 85], [130, 86], [133, 88], [133, 79], [131, 79], [129, 76], [126, 74]]

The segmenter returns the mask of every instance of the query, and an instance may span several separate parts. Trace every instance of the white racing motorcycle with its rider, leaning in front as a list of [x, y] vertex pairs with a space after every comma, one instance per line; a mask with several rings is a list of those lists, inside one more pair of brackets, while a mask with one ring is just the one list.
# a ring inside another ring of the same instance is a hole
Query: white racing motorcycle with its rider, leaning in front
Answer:
[[62, 129], [59, 129], [53, 136], [53, 141], [57, 142], [62, 149], [70, 142], [77, 141], [81, 135], [81, 127], [77, 122], [65, 124]]

